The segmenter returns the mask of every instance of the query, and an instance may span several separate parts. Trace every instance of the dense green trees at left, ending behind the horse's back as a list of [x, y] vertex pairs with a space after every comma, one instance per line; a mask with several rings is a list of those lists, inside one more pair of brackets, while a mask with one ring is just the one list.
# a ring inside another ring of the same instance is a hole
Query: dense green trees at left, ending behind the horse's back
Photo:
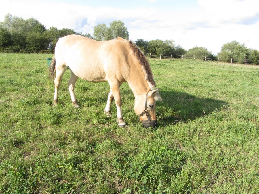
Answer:
[[7, 14], [0, 22], [0, 47], [7, 52], [39, 52], [41, 50], [54, 50], [59, 38], [70, 34], [79, 34], [91, 37], [90, 34], [77, 33], [73, 29], [58, 30], [51, 27], [48, 30], [35, 18], [22, 19]]

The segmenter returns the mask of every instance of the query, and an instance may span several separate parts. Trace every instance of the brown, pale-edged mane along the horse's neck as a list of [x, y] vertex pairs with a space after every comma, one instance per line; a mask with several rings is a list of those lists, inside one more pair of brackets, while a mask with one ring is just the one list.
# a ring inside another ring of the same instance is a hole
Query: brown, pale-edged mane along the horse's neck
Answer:
[[155, 88], [156, 83], [155, 83], [149, 62], [148, 62], [146, 56], [140, 50], [140, 48], [137, 45], [135, 45], [132, 41], [125, 40], [121, 37], [118, 37], [117, 39], [122, 40], [122, 41], [127, 41], [129, 43], [129, 48], [132, 50], [133, 55], [138, 59], [138, 62], [142, 66], [142, 71], [145, 75], [145, 79], [148, 82], [148, 85], [150, 86], [151, 89]]

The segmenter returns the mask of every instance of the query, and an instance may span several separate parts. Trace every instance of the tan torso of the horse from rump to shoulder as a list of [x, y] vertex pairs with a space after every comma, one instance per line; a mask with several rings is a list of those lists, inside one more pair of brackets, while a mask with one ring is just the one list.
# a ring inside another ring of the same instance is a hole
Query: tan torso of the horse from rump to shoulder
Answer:
[[79, 35], [58, 40], [55, 48], [56, 64], [68, 66], [78, 77], [90, 82], [108, 81], [114, 76], [120, 82], [127, 77], [126, 41], [95, 41]]

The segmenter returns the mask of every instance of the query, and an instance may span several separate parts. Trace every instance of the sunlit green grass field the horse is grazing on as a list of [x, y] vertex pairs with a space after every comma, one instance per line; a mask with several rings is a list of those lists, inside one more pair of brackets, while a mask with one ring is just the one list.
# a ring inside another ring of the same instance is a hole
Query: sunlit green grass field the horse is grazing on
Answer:
[[104, 114], [107, 82], [78, 80], [59, 104], [45, 54], [0, 54], [0, 193], [258, 193], [259, 68], [150, 60], [162, 102], [142, 128], [121, 86], [126, 128]]

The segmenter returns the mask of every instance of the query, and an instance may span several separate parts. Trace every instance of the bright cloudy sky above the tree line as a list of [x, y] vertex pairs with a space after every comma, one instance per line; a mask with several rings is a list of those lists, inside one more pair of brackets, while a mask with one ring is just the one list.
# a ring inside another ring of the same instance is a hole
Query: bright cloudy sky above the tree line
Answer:
[[0, 21], [10, 13], [47, 29], [92, 34], [97, 24], [121, 20], [132, 41], [174, 40], [216, 55], [236, 40], [259, 51], [259, 0], [0, 0], [0, 7]]

